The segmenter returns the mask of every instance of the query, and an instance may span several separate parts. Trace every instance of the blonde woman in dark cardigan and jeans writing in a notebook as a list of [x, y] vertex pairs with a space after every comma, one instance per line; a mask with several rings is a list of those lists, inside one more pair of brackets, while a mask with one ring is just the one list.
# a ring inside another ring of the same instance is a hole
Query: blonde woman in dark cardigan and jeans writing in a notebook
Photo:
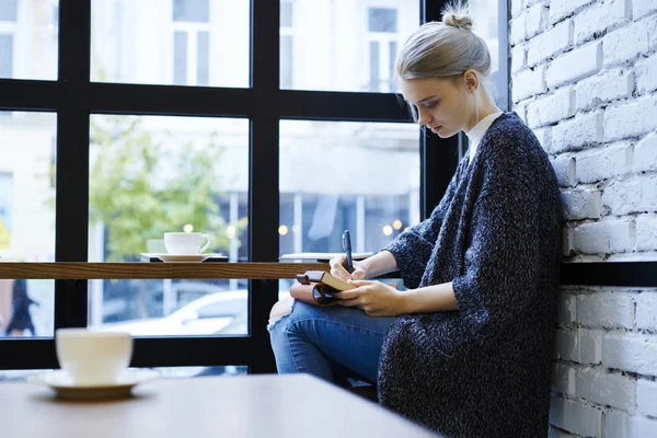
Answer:
[[[445, 11], [395, 65], [418, 123], [470, 139], [440, 204], [354, 274], [331, 261], [357, 286], [343, 308], [279, 302], [268, 328], [279, 372], [377, 382], [383, 406], [448, 437], [546, 436], [560, 194], [535, 136], [491, 99], [471, 26]], [[364, 280], [397, 269], [406, 291]]]

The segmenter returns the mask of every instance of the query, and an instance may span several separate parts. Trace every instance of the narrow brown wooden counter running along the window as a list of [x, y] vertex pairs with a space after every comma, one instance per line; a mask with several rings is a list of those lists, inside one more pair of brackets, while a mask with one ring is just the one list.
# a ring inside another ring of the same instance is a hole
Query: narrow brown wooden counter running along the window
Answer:
[[327, 270], [327, 263], [0, 263], [0, 278], [295, 278], [307, 270]]

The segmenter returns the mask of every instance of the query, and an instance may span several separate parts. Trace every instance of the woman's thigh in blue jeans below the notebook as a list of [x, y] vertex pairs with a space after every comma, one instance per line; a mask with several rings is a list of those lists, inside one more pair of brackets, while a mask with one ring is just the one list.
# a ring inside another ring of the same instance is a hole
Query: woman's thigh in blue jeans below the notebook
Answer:
[[[327, 308], [295, 301], [291, 313], [273, 320], [268, 330], [285, 336], [301, 336], [330, 361], [371, 380], [377, 380], [381, 346], [394, 318], [368, 316], [356, 308]], [[292, 356], [293, 343], [290, 344]]]

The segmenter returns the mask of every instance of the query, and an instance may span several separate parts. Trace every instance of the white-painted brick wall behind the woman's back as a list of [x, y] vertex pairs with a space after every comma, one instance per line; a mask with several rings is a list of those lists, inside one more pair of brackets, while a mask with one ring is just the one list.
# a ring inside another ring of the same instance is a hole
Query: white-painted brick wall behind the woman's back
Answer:
[[[511, 0], [514, 110], [573, 262], [657, 260], [657, 0]], [[550, 437], [657, 437], [657, 289], [563, 288]]]

